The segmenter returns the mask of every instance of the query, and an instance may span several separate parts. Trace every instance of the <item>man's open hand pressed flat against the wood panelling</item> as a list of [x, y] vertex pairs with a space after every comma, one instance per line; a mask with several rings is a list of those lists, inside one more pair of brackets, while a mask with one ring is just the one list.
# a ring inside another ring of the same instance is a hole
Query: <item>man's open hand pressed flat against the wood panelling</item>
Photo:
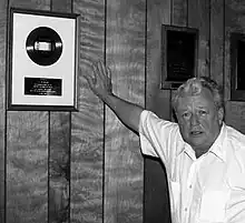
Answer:
[[89, 88], [101, 100], [112, 94], [111, 72], [101, 61], [92, 64], [94, 72], [86, 75]]

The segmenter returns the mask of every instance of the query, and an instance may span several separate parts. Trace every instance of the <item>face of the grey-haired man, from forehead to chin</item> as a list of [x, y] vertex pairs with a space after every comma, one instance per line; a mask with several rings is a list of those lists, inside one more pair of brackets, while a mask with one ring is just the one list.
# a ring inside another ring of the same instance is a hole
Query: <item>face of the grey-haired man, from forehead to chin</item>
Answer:
[[212, 92], [204, 88], [198, 95], [179, 98], [176, 114], [184, 141], [195, 151], [206, 152], [218, 136], [224, 116]]

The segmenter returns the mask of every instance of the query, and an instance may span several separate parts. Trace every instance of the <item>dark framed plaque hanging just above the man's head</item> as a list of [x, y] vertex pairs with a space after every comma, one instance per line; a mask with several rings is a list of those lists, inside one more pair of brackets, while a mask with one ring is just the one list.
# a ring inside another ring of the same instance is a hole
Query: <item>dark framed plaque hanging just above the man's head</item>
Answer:
[[198, 29], [161, 24], [161, 89], [197, 75]]

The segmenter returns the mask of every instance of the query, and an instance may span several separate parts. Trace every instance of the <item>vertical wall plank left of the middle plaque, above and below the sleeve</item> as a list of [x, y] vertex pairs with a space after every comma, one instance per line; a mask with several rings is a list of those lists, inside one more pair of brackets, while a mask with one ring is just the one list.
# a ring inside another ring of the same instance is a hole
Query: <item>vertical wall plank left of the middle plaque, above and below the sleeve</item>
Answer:
[[[170, 24], [170, 0], [147, 1], [147, 74], [146, 109], [163, 119], [170, 119], [170, 91], [160, 90], [161, 65], [161, 24]], [[165, 168], [158, 159], [145, 159], [145, 223], [168, 223], [170, 221], [168, 186]]]

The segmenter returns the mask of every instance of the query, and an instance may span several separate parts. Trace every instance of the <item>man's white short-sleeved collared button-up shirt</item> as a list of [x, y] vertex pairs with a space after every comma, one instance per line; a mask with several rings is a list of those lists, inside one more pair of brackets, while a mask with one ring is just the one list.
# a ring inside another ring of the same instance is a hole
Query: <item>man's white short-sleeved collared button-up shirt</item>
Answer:
[[209, 151], [196, 159], [177, 123], [143, 111], [144, 154], [164, 162], [173, 223], [245, 223], [245, 135], [223, 123]]

